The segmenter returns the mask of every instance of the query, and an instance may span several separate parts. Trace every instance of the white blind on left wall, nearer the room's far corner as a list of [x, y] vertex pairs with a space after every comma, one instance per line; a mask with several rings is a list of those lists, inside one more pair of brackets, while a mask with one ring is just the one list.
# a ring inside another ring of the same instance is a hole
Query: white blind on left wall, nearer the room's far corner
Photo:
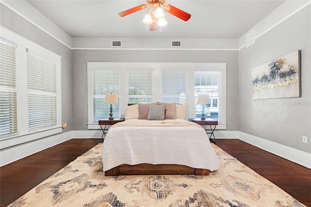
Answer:
[[28, 129], [57, 124], [56, 64], [27, 53]]

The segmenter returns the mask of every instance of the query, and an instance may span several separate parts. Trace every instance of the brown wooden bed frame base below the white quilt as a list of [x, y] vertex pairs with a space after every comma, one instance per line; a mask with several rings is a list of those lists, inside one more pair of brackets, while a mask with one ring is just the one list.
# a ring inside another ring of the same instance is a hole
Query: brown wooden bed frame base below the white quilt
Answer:
[[122, 164], [115, 168], [105, 171], [105, 176], [119, 176], [119, 175], [163, 175], [163, 174], [171, 174], [171, 175], [208, 175], [209, 170], [207, 169], [196, 169], [190, 168], [185, 165], [171, 165], [171, 164], [138, 164], [138, 165], [127, 165]]

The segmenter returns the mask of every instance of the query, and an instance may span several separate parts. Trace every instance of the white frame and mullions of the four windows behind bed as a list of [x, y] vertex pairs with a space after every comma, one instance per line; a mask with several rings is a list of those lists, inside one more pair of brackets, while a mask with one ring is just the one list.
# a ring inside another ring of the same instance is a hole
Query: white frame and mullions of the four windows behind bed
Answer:
[[[226, 129], [226, 66], [227, 63], [191, 63], [191, 62], [86, 62], [87, 63], [87, 100], [88, 100], [88, 129], [100, 129], [97, 122], [92, 119], [92, 80], [90, 71], [93, 69], [117, 69], [120, 70], [120, 94], [119, 94], [119, 108], [120, 117], [124, 117], [124, 107], [127, 105], [127, 84], [126, 71], [127, 70], [153, 70], [154, 71], [154, 102], [161, 101], [161, 70], [187, 70], [188, 83], [186, 101], [188, 103], [188, 118], [195, 117], [195, 94], [194, 94], [194, 71], [195, 70], [209, 70], [222, 72], [222, 118], [218, 121], [217, 129]], [[158, 88], [156, 88], [158, 86]], [[193, 91], [193, 93], [191, 92]]]

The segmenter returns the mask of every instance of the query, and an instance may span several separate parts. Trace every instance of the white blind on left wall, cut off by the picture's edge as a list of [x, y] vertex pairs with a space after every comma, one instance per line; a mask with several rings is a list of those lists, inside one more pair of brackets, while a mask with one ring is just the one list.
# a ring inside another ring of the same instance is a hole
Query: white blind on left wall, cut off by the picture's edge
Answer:
[[[16, 46], [0, 41], [0, 136], [17, 133]], [[7, 41], [6, 41], [7, 42]]]

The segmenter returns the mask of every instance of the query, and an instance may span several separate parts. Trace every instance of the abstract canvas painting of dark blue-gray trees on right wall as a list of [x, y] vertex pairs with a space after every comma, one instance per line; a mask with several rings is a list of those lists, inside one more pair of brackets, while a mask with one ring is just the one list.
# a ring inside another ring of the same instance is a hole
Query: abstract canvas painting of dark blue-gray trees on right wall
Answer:
[[252, 69], [253, 100], [301, 96], [300, 50]]

